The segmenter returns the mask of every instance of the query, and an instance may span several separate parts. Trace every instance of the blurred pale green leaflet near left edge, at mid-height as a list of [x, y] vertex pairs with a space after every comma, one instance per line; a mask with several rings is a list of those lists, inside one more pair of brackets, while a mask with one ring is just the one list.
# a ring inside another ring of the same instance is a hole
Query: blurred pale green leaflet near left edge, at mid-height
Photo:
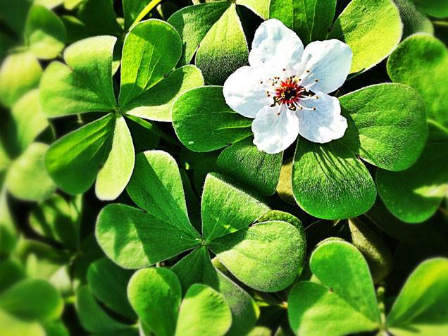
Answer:
[[6, 185], [15, 197], [42, 201], [54, 193], [56, 185], [44, 166], [44, 155], [48, 148], [46, 144], [34, 142], [13, 161], [6, 175]]

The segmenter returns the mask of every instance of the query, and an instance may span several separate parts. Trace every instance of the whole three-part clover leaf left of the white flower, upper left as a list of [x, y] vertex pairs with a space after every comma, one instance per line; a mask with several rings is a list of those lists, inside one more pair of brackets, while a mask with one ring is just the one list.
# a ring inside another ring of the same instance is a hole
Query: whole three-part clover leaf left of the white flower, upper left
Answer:
[[125, 118], [154, 129], [155, 125], [140, 118], [170, 120], [175, 98], [203, 84], [194, 66], [173, 70], [182, 52], [173, 27], [147, 20], [126, 35], [117, 103], [112, 77], [115, 43], [112, 36], [76, 42], [64, 52], [66, 65], [51, 63], [42, 77], [41, 102], [46, 116], [106, 113], [58, 139], [46, 154], [51, 178], [68, 194], [85, 192], [97, 180], [97, 197], [116, 199], [127, 185], [135, 161]]

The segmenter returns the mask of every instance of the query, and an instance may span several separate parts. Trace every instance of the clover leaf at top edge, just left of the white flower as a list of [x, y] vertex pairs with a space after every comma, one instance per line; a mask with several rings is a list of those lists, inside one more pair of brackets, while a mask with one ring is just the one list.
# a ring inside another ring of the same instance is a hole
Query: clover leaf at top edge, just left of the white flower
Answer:
[[263, 18], [268, 16], [268, 1], [237, 0], [187, 6], [168, 19], [184, 44], [179, 64], [188, 64], [196, 54], [195, 64], [211, 84], [222, 84], [247, 63], [247, 39], [237, 6], [246, 6]]

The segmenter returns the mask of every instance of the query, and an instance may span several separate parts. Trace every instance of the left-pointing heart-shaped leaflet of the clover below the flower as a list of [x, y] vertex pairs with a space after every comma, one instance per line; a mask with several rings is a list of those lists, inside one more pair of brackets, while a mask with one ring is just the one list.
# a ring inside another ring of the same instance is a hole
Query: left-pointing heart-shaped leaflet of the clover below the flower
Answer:
[[201, 237], [178, 222], [163, 221], [124, 204], [101, 210], [96, 236], [106, 256], [123, 268], [141, 268], [197, 247]]

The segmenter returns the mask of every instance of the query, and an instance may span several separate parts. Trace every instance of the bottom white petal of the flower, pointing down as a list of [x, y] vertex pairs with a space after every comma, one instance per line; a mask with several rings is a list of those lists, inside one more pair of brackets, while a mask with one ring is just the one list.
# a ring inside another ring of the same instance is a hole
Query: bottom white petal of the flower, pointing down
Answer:
[[299, 119], [295, 112], [283, 106], [278, 115], [278, 109], [278, 106], [263, 108], [252, 123], [254, 144], [268, 154], [284, 151], [299, 135]]

